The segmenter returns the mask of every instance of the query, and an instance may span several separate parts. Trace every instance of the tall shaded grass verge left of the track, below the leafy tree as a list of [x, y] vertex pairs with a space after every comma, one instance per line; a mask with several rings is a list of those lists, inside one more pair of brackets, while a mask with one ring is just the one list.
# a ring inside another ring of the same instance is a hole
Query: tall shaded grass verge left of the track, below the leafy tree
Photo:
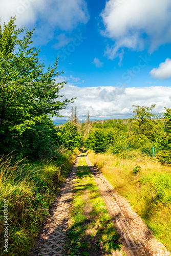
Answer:
[[[75, 156], [69, 151], [58, 151], [53, 159], [35, 163], [14, 162], [10, 156], [0, 159], [1, 255], [28, 255]], [[8, 202], [8, 252], [3, 248], [4, 199]]]

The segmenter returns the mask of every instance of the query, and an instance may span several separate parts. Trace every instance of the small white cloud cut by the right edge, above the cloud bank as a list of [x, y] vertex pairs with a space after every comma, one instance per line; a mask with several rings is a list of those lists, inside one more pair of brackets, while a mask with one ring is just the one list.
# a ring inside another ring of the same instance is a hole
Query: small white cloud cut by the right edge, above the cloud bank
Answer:
[[149, 74], [155, 79], [169, 79], [171, 77], [171, 59], [167, 58], [165, 62], [161, 62], [159, 68], [152, 69]]

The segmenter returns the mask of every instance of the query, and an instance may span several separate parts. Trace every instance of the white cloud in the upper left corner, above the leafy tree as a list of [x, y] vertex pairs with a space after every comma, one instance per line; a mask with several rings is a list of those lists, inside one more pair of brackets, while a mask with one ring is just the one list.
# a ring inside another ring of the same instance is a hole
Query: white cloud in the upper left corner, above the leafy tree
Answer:
[[34, 27], [36, 33], [45, 40], [53, 38], [53, 31], [71, 31], [89, 20], [85, 0], [1, 0], [1, 24], [16, 15], [16, 25]]

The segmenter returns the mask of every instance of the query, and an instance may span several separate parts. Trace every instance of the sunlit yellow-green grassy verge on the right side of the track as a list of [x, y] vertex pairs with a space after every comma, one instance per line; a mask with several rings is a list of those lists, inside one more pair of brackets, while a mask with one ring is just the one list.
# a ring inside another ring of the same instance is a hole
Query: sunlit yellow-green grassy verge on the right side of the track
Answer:
[[171, 250], [171, 168], [136, 152], [124, 156], [90, 152], [88, 156]]

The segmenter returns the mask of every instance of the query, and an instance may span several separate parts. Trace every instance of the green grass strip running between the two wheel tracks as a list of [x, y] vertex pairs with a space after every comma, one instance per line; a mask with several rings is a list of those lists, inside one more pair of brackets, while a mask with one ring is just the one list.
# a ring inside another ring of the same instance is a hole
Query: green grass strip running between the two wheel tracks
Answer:
[[65, 255], [108, 255], [121, 248], [85, 158], [79, 159]]

